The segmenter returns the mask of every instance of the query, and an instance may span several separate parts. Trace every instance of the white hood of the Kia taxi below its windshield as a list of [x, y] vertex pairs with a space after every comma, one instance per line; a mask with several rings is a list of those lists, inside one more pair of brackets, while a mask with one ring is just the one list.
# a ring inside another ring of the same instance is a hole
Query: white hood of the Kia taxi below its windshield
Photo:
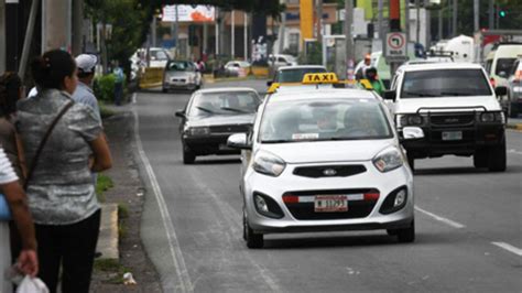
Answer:
[[393, 139], [264, 143], [261, 149], [280, 156], [286, 163], [300, 164], [369, 161], [391, 145]]

